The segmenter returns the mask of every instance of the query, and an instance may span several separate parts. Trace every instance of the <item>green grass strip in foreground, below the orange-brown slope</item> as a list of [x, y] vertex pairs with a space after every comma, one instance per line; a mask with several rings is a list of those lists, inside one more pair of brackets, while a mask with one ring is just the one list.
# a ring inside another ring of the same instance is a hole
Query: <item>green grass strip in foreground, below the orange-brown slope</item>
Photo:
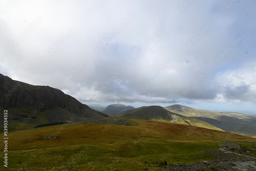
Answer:
[[[182, 145], [183, 147], [176, 147]], [[200, 146], [200, 150], [192, 148]], [[172, 151], [169, 150], [173, 146]], [[14, 169], [27, 168], [29, 170], [39, 170], [39, 168], [52, 169], [54, 166], [73, 166], [75, 168], [88, 170], [122, 170], [133, 168], [141, 170], [144, 167], [154, 168], [154, 165], [145, 164], [162, 161], [164, 158], [168, 164], [192, 163], [203, 160], [212, 160], [209, 154], [201, 154], [202, 148], [209, 149], [217, 147], [217, 143], [205, 146], [203, 142], [190, 143], [162, 143], [161, 140], [148, 142], [123, 142], [110, 145], [71, 145], [51, 148], [11, 150], [9, 153]], [[187, 152], [189, 151], [189, 153]], [[22, 154], [25, 152], [25, 154]], [[169, 153], [168, 153], [169, 152]], [[175, 159], [178, 158], [179, 161]], [[192, 157], [196, 157], [193, 159]], [[22, 163], [20, 163], [22, 162]], [[108, 163], [108, 164], [106, 164]], [[138, 163], [138, 165], [136, 165]], [[109, 169], [108, 169], [109, 170]]]

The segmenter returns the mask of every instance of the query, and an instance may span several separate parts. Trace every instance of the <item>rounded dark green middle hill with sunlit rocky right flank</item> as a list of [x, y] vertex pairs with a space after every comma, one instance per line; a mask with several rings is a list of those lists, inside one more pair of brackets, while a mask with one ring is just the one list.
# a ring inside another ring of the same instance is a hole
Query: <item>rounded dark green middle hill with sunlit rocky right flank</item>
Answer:
[[127, 119], [139, 119], [139, 120], [153, 120], [153, 121], [165, 121], [172, 123], [180, 123], [198, 127], [204, 127], [208, 129], [214, 129], [223, 131], [213, 125], [210, 125], [204, 121], [192, 117], [186, 117], [162, 108], [161, 106], [143, 106], [137, 109], [131, 109], [124, 112], [110, 115], [111, 117], [121, 117]]

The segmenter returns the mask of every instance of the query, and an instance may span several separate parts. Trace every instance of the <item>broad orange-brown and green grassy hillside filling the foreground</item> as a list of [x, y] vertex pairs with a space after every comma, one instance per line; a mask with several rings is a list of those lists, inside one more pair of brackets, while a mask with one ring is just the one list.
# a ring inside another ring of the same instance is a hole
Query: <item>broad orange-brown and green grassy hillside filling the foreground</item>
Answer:
[[[145, 167], [159, 170], [150, 163], [209, 161], [213, 158], [205, 151], [218, 148], [222, 141], [256, 142], [255, 138], [190, 125], [132, 121], [131, 126], [79, 123], [11, 132], [8, 167], [62, 171], [131, 168], [136, 171]], [[0, 146], [3, 155], [3, 143]]]

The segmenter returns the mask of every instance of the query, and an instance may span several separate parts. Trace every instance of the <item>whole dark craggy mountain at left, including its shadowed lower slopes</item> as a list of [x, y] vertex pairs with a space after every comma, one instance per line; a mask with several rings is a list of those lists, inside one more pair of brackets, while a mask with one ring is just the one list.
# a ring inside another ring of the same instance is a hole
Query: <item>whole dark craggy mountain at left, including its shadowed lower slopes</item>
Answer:
[[[52, 122], [108, 117], [59, 89], [33, 86], [0, 74], [0, 112], [8, 110], [8, 130], [27, 129]], [[0, 119], [3, 126], [3, 117]], [[24, 124], [22, 124], [24, 123]]]

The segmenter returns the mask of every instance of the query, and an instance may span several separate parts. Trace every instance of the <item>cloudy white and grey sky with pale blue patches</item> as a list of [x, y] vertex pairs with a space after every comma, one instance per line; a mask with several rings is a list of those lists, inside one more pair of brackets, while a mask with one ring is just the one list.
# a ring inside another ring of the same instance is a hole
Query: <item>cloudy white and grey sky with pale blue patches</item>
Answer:
[[256, 114], [256, 2], [0, 2], [0, 73], [80, 102]]

